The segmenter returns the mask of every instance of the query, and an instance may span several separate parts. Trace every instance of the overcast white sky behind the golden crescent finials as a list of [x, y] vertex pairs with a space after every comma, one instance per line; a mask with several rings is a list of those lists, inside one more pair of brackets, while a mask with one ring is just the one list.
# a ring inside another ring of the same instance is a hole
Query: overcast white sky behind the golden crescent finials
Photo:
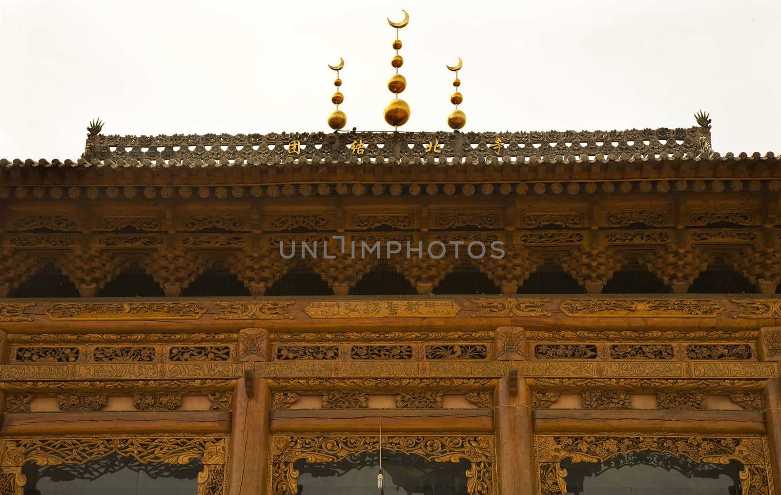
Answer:
[[0, 157], [75, 159], [104, 134], [330, 131], [383, 109], [401, 20], [403, 131], [447, 129], [464, 60], [465, 131], [690, 127], [713, 148], [781, 151], [779, 0], [352, 2], [0, 0]]

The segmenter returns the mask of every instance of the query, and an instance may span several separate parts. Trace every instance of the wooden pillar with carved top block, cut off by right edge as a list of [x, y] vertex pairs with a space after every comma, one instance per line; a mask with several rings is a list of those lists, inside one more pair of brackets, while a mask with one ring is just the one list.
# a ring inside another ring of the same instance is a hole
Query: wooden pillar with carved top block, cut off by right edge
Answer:
[[[759, 357], [765, 361], [781, 360], [781, 327], [759, 329]], [[770, 465], [776, 493], [781, 493], [781, 378], [770, 378], [762, 393], [765, 407], [765, 429], [770, 447]]]

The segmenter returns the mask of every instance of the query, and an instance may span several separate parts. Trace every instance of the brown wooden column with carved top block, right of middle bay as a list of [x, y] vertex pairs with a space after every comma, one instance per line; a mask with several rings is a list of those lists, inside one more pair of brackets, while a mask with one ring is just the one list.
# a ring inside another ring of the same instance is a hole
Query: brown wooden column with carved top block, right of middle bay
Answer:
[[[497, 328], [497, 358], [523, 359], [525, 332], [519, 327]], [[537, 493], [531, 392], [514, 366], [499, 380], [495, 413], [497, 477], [501, 495]]]

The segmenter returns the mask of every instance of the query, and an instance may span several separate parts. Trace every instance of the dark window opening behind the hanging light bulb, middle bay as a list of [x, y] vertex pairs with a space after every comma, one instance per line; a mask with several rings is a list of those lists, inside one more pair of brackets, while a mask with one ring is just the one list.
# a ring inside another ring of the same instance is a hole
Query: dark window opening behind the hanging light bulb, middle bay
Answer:
[[[377, 474], [380, 472], [376, 452], [351, 455], [341, 461], [308, 463], [297, 461], [300, 495], [366, 495], [380, 493]], [[472, 463], [429, 461], [415, 454], [383, 451], [384, 493], [414, 493], [418, 495], [467, 495], [466, 472]]]

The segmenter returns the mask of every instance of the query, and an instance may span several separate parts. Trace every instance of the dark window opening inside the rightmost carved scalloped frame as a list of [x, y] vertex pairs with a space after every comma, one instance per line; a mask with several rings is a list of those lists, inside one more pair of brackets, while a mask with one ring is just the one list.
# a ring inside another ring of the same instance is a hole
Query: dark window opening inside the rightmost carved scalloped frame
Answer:
[[566, 469], [566, 493], [574, 495], [737, 495], [737, 461], [727, 465], [691, 461], [661, 452], [616, 455], [602, 462], [561, 462]]

